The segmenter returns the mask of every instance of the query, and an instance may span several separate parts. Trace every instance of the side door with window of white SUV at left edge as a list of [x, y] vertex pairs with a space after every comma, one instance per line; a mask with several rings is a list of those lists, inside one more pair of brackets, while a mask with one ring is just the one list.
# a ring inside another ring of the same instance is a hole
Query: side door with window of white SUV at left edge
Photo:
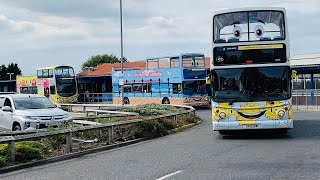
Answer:
[[[0, 100], [0, 102], [3, 101]], [[12, 102], [9, 98], [4, 98], [3, 106], [9, 106], [12, 109]], [[12, 130], [13, 114], [12, 112], [3, 111], [1, 108], [0, 128], [3, 130]]]

